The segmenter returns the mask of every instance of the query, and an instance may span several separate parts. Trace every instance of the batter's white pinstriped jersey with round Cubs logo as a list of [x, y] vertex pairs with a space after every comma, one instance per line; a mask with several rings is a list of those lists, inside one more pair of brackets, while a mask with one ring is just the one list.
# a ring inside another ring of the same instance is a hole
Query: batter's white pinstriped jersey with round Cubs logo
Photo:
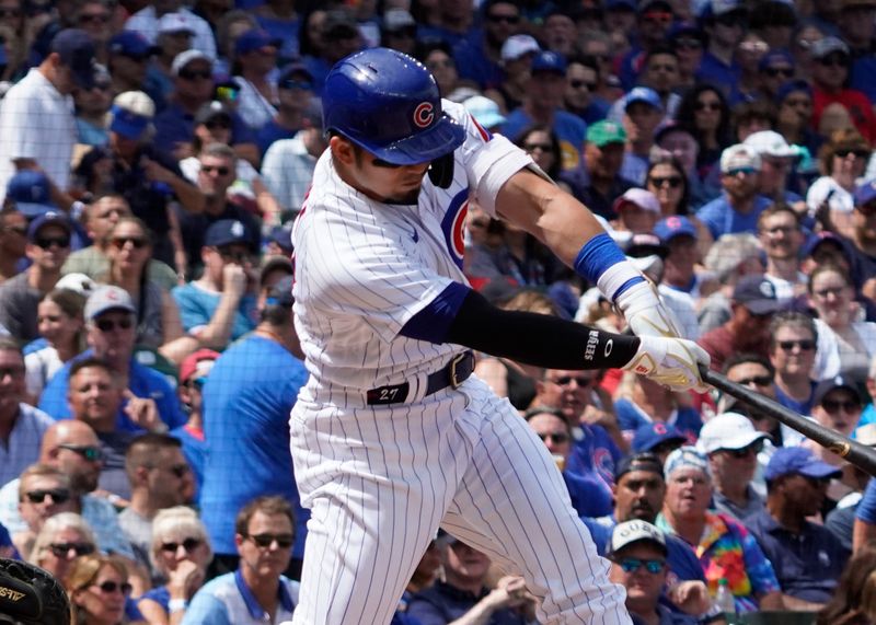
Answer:
[[328, 150], [316, 164], [292, 233], [296, 329], [311, 390], [401, 383], [461, 351], [399, 331], [451, 281], [466, 283], [462, 234], [470, 194], [492, 210], [502, 185], [532, 161], [504, 137], [487, 141], [461, 105], [442, 104], [468, 135], [454, 153], [450, 187], [426, 176], [417, 206], [357, 192], [337, 175]]

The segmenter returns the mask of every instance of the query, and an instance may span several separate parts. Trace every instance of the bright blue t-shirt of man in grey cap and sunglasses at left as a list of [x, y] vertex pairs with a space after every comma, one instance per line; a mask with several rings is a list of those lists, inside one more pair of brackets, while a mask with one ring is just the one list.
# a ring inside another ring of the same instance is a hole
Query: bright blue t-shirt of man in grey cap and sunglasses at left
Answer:
[[[66, 362], [51, 377], [51, 380], [48, 381], [43, 394], [39, 396], [41, 410], [57, 420], [71, 418], [70, 406], [67, 403], [67, 391], [70, 386], [70, 367], [73, 362], [93, 355], [94, 352], [91, 349], [87, 349], [69, 362]], [[154, 369], [143, 367], [134, 359], [131, 359], [130, 368], [128, 369], [128, 389], [137, 397], [151, 397], [154, 400], [158, 414], [169, 428], [177, 428], [188, 420], [185, 413], [183, 413], [182, 406], [180, 406], [176, 392], [168, 382], [168, 379]], [[128, 402], [125, 400], [118, 407], [116, 431], [143, 433], [146, 430], [136, 426], [125, 414], [125, 406], [127, 405]]]

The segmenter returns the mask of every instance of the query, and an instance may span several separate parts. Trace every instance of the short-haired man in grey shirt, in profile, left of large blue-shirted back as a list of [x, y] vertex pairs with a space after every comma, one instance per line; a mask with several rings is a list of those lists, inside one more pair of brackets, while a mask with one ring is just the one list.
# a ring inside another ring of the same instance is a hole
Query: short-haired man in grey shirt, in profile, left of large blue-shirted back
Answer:
[[152, 551], [152, 520], [161, 510], [193, 500], [195, 479], [178, 439], [146, 433], [130, 441], [125, 452], [130, 483], [130, 505], [118, 514], [118, 524], [130, 541], [138, 564], [150, 571], [153, 583], [162, 579]]

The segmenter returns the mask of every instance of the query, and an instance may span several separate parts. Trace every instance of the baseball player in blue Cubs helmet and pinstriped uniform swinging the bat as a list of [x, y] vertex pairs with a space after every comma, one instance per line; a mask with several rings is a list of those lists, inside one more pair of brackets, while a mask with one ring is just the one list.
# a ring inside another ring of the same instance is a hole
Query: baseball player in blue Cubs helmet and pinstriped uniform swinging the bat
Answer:
[[[291, 414], [311, 508], [297, 625], [389, 623], [440, 525], [521, 575], [548, 623], [627, 624], [546, 448], [471, 375], [472, 350], [557, 369], [620, 367], [702, 385], [655, 290], [532, 160], [442, 101], [387, 48], [323, 92], [330, 148], [292, 241], [310, 380]], [[599, 285], [638, 336], [491, 306], [462, 274], [468, 200], [533, 233]]]

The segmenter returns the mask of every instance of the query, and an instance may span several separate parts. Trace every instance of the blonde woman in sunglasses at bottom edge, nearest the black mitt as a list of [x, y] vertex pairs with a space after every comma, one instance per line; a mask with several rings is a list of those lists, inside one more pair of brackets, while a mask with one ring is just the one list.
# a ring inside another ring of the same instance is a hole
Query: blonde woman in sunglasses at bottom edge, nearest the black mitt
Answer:
[[[73, 560], [64, 578], [76, 625], [127, 625], [128, 569], [114, 556], [87, 555]], [[137, 621], [137, 623], [142, 623]]]

